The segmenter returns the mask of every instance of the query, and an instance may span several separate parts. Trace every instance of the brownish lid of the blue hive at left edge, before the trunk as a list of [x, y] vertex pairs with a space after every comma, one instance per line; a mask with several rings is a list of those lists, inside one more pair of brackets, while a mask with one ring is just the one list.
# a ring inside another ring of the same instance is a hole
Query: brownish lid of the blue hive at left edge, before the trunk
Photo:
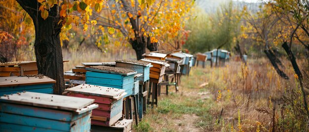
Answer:
[[[41, 78], [43, 77], [43, 78]], [[29, 77], [27, 76], [9, 76], [9, 77], [0, 77], [0, 87], [13, 87], [13, 86], [25, 86], [25, 85], [36, 85], [36, 84], [48, 84], [56, 83], [55, 80], [46, 77]]]

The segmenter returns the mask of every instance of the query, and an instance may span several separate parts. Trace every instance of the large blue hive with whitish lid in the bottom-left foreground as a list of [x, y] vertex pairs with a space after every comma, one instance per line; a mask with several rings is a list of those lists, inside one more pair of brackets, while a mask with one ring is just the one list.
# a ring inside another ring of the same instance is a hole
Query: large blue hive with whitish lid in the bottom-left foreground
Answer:
[[0, 97], [1, 132], [89, 132], [94, 99], [21, 92]]

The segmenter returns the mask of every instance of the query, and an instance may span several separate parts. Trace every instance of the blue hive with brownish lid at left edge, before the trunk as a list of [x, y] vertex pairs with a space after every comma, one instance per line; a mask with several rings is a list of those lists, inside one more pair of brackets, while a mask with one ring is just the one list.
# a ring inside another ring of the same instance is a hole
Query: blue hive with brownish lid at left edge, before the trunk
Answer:
[[0, 77], [0, 82], [0, 96], [23, 91], [52, 94], [56, 83], [43, 75]]

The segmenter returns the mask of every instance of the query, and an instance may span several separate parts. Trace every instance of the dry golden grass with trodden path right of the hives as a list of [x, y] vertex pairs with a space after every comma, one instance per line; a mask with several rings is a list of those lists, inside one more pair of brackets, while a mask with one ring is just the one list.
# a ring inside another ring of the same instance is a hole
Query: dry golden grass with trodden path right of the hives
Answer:
[[[283, 63], [284, 71], [294, 78], [290, 63]], [[143, 122], [152, 132], [269, 132], [272, 117], [256, 109], [276, 105], [280, 114], [277, 105], [284, 103], [282, 92], [290, 86], [295, 82], [278, 76], [265, 58], [249, 60], [248, 66], [231, 61], [224, 67], [194, 67], [190, 76], [182, 76], [180, 92], [170, 87], [170, 94], [158, 97], [158, 106], [148, 109]], [[282, 121], [275, 118], [278, 130]]]

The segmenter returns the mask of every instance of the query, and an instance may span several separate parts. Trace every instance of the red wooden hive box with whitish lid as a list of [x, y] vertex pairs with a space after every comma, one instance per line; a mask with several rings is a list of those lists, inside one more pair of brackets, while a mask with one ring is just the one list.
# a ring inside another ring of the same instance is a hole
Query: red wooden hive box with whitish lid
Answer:
[[81, 84], [65, 91], [67, 96], [95, 99], [99, 107], [92, 112], [93, 125], [111, 126], [122, 117], [122, 99], [127, 94], [125, 90]]

